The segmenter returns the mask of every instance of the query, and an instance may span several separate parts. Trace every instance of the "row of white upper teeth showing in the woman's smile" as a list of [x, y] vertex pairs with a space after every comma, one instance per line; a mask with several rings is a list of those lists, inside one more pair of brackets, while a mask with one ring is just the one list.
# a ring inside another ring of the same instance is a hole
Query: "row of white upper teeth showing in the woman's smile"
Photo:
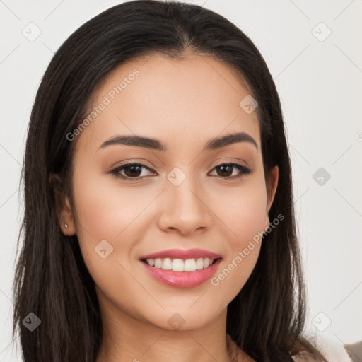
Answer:
[[151, 267], [156, 267], [164, 270], [173, 270], [173, 271], [195, 271], [201, 270], [209, 267], [214, 262], [214, 259], [209, 259], [208, 257], [198, 259], [170, 259], [166, 257], [164, 259], [146, 259], [146, 263], [151, 265]]

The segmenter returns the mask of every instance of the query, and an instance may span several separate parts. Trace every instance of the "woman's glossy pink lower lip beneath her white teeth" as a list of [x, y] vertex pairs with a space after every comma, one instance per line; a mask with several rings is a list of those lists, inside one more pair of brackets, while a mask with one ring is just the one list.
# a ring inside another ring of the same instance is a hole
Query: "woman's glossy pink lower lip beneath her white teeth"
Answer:
[[177, 288], [192, 288], [204, 283], [215, 274], [220, 262], [221, 259], [217, 259], [214, 264], [210, 265], [210, 267], [201, 270], [172, 271], [151, 267], [151, 265], [141, 261], [141, 263], [144, 264], [146, 271], [148, 271], [154, 279], [168, 286], [175, 286]]

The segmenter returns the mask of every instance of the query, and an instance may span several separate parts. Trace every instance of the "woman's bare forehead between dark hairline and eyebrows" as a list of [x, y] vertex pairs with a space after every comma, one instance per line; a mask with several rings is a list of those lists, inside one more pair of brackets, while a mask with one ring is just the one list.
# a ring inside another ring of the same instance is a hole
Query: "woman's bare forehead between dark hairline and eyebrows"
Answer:
[[137, 134], [185, 146], [243, 131], [259, 145], [257, 114], [240, 107], [249, 95], [240, 74], [213, 57], [131, 59], [94, 89], [86, 113], [94, 117], [77, 141], [98, 148], [115, 134]]

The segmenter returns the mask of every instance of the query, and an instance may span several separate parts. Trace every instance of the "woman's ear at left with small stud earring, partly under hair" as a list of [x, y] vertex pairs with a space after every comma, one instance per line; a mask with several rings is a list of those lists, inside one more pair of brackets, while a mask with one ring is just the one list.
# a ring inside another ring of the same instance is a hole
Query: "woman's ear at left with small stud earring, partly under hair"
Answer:
[[55, 174], [51, 173], [49, 175], [49, 184], [53, 189], [56, 207], [57, 207], [57, 216], [59, 220], [59, 226], [62, 229], [64, 235], [74, 235], [76, 234], [76, 223], [74, 220], [74, 214], [71, 210], [71, 203], [69, 202], [69, 197], [64, 192], [64, 182], [62, 178]]

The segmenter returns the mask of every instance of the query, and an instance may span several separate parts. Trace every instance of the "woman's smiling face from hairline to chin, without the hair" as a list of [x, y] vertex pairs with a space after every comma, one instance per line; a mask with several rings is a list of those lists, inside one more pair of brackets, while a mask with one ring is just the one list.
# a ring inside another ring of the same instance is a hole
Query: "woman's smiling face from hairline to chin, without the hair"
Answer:
[[[278, 178], [274, 168], [266, 185], [250, 92], [228, 66], [193, 54], [133, 59], [94, 94], [73, 133], [74, 209], [62, 221], [100, 308], [164, 329], [212, 322], [255, 267]], [[159, 252], [155, 266], [141, 260]]]

